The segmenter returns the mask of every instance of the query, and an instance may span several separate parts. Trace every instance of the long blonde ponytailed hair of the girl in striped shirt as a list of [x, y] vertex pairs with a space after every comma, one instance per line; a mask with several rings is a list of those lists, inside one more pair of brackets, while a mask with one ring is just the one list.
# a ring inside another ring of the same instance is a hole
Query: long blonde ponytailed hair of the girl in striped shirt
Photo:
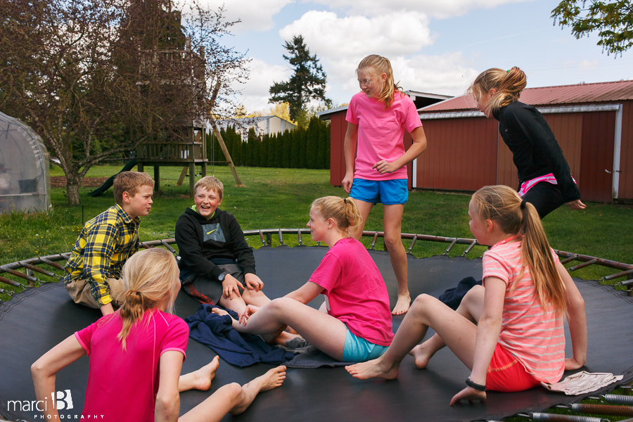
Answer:
[[485, 186], [473, 195], [473, 203], [482, 221], [491, 219], [506, 234], [523, 234], [521, 262], [527, 266], [534, 282], [539, 302], [546, 309], [565, 312], [566, 291], [556, 270], [554, 257], [545, 236], [539, 214], [531, 203], [525, 202], [508, 186]]

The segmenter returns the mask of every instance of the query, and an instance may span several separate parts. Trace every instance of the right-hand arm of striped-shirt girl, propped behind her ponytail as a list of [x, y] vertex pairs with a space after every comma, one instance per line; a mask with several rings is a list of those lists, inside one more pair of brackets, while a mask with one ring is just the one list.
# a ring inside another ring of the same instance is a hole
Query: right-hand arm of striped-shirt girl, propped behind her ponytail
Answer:
[[567, 289], [567, 321], [572, 338], [573, 357], [565, 359], [565, 371], [578, 369], [587, 362], [587, 316], [584, 313], [584, 299], [576, 287], [576, 283], [563, 267], [556, 264]]

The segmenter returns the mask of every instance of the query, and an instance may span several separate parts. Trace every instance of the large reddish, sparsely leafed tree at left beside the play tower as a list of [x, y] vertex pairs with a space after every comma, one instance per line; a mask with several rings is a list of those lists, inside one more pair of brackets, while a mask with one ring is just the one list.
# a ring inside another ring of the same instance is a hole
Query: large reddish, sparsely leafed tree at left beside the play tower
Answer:
[[189, 0], [0, 0], [0, 110], [30, 124], [67, 179], [70, 204], [93, 165], [184, 125], [234, 115], [242, 54], [233, 22]]

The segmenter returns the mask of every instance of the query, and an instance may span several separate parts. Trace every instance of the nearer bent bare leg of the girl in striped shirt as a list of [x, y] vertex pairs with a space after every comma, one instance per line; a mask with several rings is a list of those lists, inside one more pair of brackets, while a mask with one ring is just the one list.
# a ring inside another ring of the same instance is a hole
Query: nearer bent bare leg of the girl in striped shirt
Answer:
[[345, 366], [354, 378], [395, 379], [407, 353], [432, 327], [468, 369], [473, 367], [477, 326], [429, 295], [419, 295], [398, 328], [393, 342], [381, 357]]

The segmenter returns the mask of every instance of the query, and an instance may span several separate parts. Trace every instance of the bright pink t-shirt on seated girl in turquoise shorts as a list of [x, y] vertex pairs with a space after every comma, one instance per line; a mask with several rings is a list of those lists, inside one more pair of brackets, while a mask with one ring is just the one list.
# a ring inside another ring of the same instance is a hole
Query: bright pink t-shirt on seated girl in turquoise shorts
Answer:
[[328, 314], [343, 321], [352, 333], [376, 345], [391, 344], [385, 281], [362, 243], [352, 238], [336, 242], [309, 281], [326, 290]]

